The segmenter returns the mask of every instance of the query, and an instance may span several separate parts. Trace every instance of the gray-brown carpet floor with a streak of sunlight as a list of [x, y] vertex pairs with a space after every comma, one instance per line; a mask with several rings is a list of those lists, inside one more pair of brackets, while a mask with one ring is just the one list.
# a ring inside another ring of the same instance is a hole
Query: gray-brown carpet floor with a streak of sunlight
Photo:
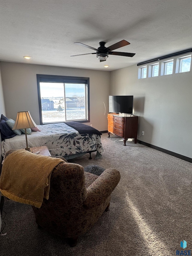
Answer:
[[[39, 230], [31, 206], [5, 199], [1, 256], [171, 256], [187, 241], [192, 250], [192, 163], [132, 140], [101, 135], [104, 154], [70, 162], [120, 171], [108, 212], [71, 248], [67, 241]], [[6, 212], [6, 215], [5, 215]]]

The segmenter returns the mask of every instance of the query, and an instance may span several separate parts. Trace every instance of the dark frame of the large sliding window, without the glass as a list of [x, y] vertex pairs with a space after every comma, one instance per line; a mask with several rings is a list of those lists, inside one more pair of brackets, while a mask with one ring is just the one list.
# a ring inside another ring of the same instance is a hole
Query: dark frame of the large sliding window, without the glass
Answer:
[[[90, 122], [90, 95], [89, 95], [89, 77], [71, 77], [71, 76], [57, 76], [57, 75], [44, 75], [44, 74], [37, 74], [37, 89], [38, 89], [38, 103], [39, 103], [39, 117], [40, 117], [40, 124], [53, 124], [53, 123], [63, 123], [63, 122], [69, 122], [67, 121], [61, 121], [61, 122], [43, 122], [43, 116], [42, 116], [42, 107], [41, 107], [41, 89], [40, 89], [40, 83], [46, 82], [46, 83], [82, 83], [85, 84], [85, 100], [86, 101], [86, 108], [87, 108], [87, 116], [86, 119], [83, 120], [70, 120], [73, 122], [79, 122], [79, 123], [85, 123]], [[64, 93], [65, 97], [65, 93]]]

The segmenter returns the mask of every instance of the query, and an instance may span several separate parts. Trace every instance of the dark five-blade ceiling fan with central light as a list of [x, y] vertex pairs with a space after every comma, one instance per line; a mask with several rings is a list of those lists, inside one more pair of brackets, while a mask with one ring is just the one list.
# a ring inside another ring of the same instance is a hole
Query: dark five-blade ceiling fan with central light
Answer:
[[128, 44], [130, 44], [128, 41], [122, 40], [119, 41], [116, 44], [113, 44], [109, 47], [105, 47], [105, 42], [100, 42], [99, 45], [100, 47], [98, 47], [98, 49], [88, 46], [86, 44], [82, 44], [82, 43], [74, 43], [74, 44], [79, 44], [83, 47], [87, 47], [90, 48], [92, 50], [95, 50], [96, 53], [85, 53], [85, 54], [78, 54], [78, 55], [71, 55], [70, 57], [74, 57], [74, 56], [80, 56], [80, 55], [87, 55], [87, 54], [97, 54], [97, 58], [100, 60], [100, 62], [102, 61], [106, 61], [106, 59], [108, 58], [109, 54], [110, 55], [119, 55], [119, 56], [126, 56], [126, 57], [133, 57], [135, 55], [135, 53], [122, 53], [122, 52], [112, 52], [115, 49], [121, 48], [123, 46], [126, 46]]

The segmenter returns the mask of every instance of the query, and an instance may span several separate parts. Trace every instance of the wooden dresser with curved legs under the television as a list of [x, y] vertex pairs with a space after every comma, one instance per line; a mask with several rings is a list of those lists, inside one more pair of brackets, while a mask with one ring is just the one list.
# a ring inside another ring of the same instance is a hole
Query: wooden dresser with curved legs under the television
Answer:
[[126, 146], [126, 141], [129, 138], [134, 138], [134, 142], [137, 143], [138, 116], [110, 113], [107, 115], [107, 119], [108, 137], [110, 137], [110, 133], [122, 137], [124, 146]]

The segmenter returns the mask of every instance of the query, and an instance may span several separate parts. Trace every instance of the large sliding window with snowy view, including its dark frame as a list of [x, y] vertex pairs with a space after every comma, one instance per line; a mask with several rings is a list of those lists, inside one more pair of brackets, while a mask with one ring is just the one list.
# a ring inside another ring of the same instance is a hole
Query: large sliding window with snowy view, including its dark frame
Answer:
[[89, 122], [89, 78], [37, 74], [40, 123]]

